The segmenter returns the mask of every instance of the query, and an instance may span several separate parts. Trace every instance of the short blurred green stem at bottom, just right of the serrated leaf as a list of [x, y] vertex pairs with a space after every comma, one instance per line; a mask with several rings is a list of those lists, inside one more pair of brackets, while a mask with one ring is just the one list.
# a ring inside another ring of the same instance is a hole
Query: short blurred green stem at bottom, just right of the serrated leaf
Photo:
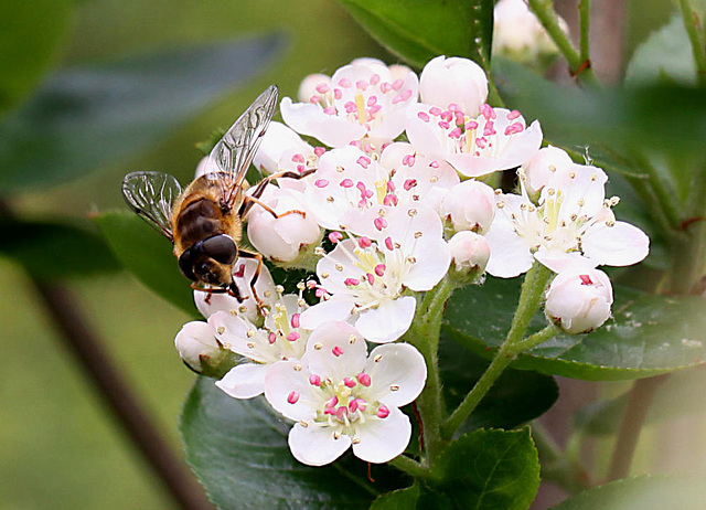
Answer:
[[542, 423], [532, 422], [532, 438], [539, 455], [542, 479], [553, 480], [570, 495], [591, 487], [588, 472], [567, 457]]

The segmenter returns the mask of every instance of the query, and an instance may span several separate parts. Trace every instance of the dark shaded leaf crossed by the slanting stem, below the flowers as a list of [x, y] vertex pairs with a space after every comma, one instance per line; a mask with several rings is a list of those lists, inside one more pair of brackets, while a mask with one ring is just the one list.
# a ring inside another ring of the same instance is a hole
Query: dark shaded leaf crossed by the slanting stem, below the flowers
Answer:
[[[488, 361], [442, 333], [439, 368], [447, 407], [452, 410], [461, 403], [486, 366]], [[506, 370], [475, 407], [462, 431], [514, 428], [546, 413], [558, 396], [554, 378], [532, 371]]]

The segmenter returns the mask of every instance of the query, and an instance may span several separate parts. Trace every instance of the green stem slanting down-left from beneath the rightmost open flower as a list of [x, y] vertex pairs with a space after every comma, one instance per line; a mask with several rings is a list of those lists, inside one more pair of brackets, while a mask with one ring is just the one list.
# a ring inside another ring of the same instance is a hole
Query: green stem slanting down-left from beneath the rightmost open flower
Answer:
[[520, 291], [520, 302], [507, 337], [502, 346], [500, 346], [493, 361], [491, 361], [488, 369], [485, 369], [483, 375], [475, 382], [475, 385], [468, 395], [466, 395], [463, 402], [459, 404], [441, 426], [441, 437], [443, 439], [449, 439], [456, 434], [456, 431], [458, 431], [466, 418], [468, 418], [478, 406], [491, 386], [498, 381], [498, 378], [500, 378], [507, 365], [517, 357], [518, 351], [516, 351], [514, 347], [527, 331], [532, 316], [534, 316], [534, 312], [539, 308], [544, 296], [544, 287], [550, 275], [552, 272], [537, 262], [534, 263], [525, 275], [522, 290]]

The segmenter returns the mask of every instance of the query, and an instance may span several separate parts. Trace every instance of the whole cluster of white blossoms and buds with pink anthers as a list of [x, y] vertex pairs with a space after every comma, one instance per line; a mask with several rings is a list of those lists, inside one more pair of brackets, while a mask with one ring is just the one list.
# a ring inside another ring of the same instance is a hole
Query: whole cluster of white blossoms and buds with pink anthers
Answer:
[[[274, 264], [311, 277], [288, 295], [264, 270], [258, 309], [246, 285], [255, 262], [238, 262], [246, 298], [196, 293], [207, 322], [186, 325], [176, 344], [199, 372], [237, 354], [225, 375], [213, 371], [216, 384], [236, 399], [264, 394], [296, 422], [289, 445], [304, 464], [331, 463], [351, 446], [370, 463], [404, 451], [411, 427], [399, 407], [420, 394], [427, 368], [398, 340], [418, 297], [445, 278], [509, 278], [536, 261], [558, 275], [548, 319], [578, 333], [610, 317], [610, 280], [596, 267], [646, 256], [648, 237], [616, 221], [606, 173], [541, 149], [538, 121], [490, 106], [488, 89], [466, 59], [436, 57], [419, 76], [363, 59], [307, 77], [299, 102], [281, 102], [286, 125], [272, 123], [255, 164], [306, 177], [279, 179], [260, 200], [304, 214], [254, 208], [247, 235]], [[518, 193], [489, 185], [514, 169]], [[302, 299], [307, 288], [319, 302]], [[367, 342], [381, 346], [368, 353]]]

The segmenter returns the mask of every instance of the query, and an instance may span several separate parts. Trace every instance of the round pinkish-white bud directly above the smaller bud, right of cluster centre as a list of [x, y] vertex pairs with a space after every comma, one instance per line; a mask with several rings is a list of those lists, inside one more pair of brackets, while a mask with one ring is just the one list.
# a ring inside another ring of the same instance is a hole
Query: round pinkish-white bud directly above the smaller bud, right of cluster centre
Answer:
[[451, 220], [453, 230], [489, 231], [495, 215], [495, 192], [480, 181], [469, 179], [456, 184], [441, 202], [441, 217]]

